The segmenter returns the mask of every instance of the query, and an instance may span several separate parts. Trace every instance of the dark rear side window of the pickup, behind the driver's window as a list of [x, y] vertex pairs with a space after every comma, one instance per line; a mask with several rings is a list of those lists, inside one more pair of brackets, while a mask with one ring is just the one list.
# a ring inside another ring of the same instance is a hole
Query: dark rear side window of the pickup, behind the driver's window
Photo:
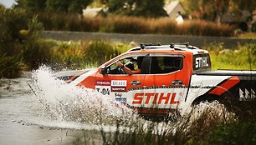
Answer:
[[182, 57], [151, 57], [151, 74], [182, 70]]

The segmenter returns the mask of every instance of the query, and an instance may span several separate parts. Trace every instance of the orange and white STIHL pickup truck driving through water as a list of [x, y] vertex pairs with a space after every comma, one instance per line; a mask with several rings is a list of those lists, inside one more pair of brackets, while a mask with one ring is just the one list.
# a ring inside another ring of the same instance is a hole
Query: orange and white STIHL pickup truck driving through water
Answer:
[[[127, 74], [124, 67], [141, 70]], [[167, 114], [226, 98], [247, 102], [256, 92], [256, 71], [212, 71], [209, 53], [189, 43], [141, 44], [98, 68], [61, 72], [57, 77], [113, 97], [139, 114]]]

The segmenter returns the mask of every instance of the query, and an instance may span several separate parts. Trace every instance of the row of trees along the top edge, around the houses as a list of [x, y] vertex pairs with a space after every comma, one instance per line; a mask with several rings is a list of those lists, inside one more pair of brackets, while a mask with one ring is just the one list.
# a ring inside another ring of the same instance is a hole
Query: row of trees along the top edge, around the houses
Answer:
[[[126, 16], [158, 18], [166, 16], [166, 0], [16, 0], [15, 7], [22, 7], [32, 12], [82, 13], [92, 3], [108, 7], [109, 13]], [[188, 15], [204, 20], [216, 20], [224, 13], [241, 16], [243, 10], [253, 13], [255, 0], [181, 0]]]

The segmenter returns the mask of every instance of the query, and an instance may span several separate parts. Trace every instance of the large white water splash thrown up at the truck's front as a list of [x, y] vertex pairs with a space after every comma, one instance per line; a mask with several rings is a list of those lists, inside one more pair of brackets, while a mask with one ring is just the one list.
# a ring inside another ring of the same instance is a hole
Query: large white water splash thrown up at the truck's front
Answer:
[[53, 77], [49, 67], [33, 72], [33, 92], [50, 117], [68, 122], [113, 124], [136, 117], [130, 108], [89, 88], [71, 86]]

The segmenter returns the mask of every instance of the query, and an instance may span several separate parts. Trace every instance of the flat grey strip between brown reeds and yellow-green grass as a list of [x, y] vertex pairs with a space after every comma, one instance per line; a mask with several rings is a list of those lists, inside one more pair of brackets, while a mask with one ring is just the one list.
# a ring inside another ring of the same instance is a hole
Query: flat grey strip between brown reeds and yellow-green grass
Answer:
[[[46, 39], [59, 41], [84, 41], [103, 40], [109, 42], [190, 42], [197, 47], [208, 47], [213, 42], [223, 42], [225, 48], [235, 48], [239, 44], [253, 42], [253, 38], [238, 37], [207, 37], [207, 36], [184, 36], [184, 35], [157, 35], [157, 34], [131, 34], [131, 33], [105, 33], [105, 32], [68, 32], [68, 31], [43, 31], [40, 36]], [[255, 39], [254, 39], [255, 40]]]

